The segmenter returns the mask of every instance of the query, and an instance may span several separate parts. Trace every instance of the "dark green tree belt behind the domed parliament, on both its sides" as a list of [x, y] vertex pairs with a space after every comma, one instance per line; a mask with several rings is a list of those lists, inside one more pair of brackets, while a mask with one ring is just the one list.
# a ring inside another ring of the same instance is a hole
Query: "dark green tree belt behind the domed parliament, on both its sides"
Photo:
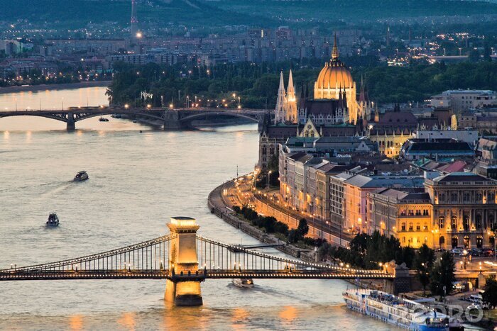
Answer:
[[[497, 63], [470, 60], [474, 60], [474, 57], [458, 64], [413, 62], [408, 67], [387, 67], [376, 57], [350, 57], [344, 62], [352, 67], [352, 74], [358, 84], [361, 77], [365, 77], [371, 100], [394, 103], [424, 101], [432, 94], [447, 89], [497, 90]], [[286, 73], [293, 68], [297, 93], [304, 84], [309, 84], [312, 93], [312, 84], [323, 62], [324, 59], [302, 60], [298, 64], [291, 61], [262, 64], [242, 62], [217, 64], [214, 67], [116, 63], [114, 80], [108, 94], [114, 103], [137, 106], [146, 103], [169, 106], [173, 103], [175, 107], [182, 107], [187, 103], [190, 106], [199, 103], [199, 106], [221, 108], [239, 104], [246, 108], [273, 108], [281, 69]], [[153, 94], [153, 98], [140, 99], [141, 91], [148, 91]]]

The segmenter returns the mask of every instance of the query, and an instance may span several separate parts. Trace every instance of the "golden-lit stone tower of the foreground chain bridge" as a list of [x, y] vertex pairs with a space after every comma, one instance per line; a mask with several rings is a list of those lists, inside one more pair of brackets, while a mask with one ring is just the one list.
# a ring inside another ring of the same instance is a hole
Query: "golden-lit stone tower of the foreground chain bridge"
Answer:
[[195, 218], [173, 217], [168, 228], [173, 236], [170, 242], [170, 279], [166, 280], [165, 301], [175, 305], [202, 305], [197, 257], [197, 230]]

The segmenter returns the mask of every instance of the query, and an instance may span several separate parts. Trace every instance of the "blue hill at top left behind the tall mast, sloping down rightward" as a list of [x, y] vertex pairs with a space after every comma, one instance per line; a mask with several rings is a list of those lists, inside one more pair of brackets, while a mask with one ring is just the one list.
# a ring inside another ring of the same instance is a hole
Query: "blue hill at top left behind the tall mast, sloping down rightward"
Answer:
[[[197, 0], [138, 0], [138, 19], [165, 25], [225, 26], [267, 21], [256, 15], [226, 12], [212, 2]], [[81, 23], [113, 21], [126, 24], [131, 17], [131, 0], [0, 0], [0, 21], [27, 19], [32, 22]]]

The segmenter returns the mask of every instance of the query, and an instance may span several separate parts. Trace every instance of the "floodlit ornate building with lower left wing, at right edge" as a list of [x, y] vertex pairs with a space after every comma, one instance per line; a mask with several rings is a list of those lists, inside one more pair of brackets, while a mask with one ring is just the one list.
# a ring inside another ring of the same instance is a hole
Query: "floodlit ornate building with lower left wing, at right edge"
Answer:
[[403, 246], [493, 247], [497, 180], [471, 172], [426, 179], [425, 188], [368, 193], [373, 230], [394, 235]]

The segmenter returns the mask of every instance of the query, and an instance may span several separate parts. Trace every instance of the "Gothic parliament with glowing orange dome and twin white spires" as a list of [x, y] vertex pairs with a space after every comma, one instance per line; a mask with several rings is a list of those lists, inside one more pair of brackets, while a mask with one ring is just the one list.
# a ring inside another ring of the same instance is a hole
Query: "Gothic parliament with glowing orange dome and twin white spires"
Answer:
[[258, 167], [266, 169], [277, 157], [278, 145], [290, 137], [323, 138], [364, 135], [373, 103], [368, 100], [364, 85], [358, 95], [356, 82], [349, 69], [339, 60], [337, 38], [332, 58], [324, 64], [314, 84], [313, 96], [302, 86], [297, 99], [292, 72], [285, 89], [283, 72], [275, 108], [275, 119], [266, 119], [259, 138]]

